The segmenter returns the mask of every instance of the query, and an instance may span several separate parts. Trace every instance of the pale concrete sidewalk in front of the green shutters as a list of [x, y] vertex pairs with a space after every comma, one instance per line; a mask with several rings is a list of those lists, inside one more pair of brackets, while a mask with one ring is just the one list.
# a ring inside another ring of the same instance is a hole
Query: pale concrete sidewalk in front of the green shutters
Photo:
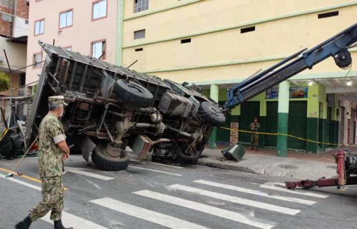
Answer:
[[[351, 150], [353, 148], [351, 147]], [[246, 153], [240, 162], [222, 161], [224, 157], [220, 150], [205, 150], [202, 152], [202, 158], [198, 160], [198, 164], [294, 179], [319, 179], [337, 176], [335, 159], [332, 156], [336, 151], [321, 154], [289, 152], [287, 158], [281, 158], [276, 157], [276, 150], [260, 149], [259, 151], [252, 151], [248, 147], [244, 147], [244, 149]]]

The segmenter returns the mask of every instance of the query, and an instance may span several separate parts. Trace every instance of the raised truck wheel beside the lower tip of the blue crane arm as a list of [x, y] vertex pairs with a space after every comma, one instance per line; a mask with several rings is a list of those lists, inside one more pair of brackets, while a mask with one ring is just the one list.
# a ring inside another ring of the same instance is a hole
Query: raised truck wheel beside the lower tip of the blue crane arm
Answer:
[[209, 102], [202, 102], [199, 106], [199, 110], [201, 111], [199, 115], [203, 122], [216, 127], [223, 126], [225, 116], [221, 112], [218, 105]]

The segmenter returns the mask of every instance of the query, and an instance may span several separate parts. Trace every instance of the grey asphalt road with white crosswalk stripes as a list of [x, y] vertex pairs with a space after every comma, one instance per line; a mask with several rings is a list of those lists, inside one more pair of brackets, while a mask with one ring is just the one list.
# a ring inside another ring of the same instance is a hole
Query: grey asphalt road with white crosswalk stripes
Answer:
[[[74, 229], [357, 228], [357, 188], [287, 191], [284, 180], [205, 166], [133, 161], [100, 171], [80, 155], [65, 162], [63, 222]], [[0, 228], [14, 228], [41, 199], [37, 158], [5, 178], [17, 162], [0, 161]], [[5, 169], [4, 169], [5, 168]], [[49, 217], [34, 229], [53, 228]]]

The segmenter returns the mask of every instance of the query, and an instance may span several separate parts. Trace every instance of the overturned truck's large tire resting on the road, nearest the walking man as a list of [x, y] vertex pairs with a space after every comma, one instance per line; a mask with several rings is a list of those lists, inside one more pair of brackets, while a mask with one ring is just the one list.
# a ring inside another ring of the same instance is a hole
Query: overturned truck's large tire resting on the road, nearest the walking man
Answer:
[[125, 152], [123, 157], [110, 157], [106, 154], [106, 146], [98, 145], [93, 150], [92, 161], [96, 166], [103, 170], [120, 171], [127, 168], [130, 163], [130, 156]]

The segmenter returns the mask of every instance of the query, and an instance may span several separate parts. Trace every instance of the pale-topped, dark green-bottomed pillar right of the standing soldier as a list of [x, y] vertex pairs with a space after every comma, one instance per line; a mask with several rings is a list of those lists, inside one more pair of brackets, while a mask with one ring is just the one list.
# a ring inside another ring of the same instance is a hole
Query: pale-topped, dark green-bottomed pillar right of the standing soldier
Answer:
[[[289, 99], [290, 82], [284, 81], [279, 84], [279, 99], [277, 113], [277, 132], [287, 134], [289, 124]], [[277, 136], [277, 156], [288, 156], [288, 136]]]

